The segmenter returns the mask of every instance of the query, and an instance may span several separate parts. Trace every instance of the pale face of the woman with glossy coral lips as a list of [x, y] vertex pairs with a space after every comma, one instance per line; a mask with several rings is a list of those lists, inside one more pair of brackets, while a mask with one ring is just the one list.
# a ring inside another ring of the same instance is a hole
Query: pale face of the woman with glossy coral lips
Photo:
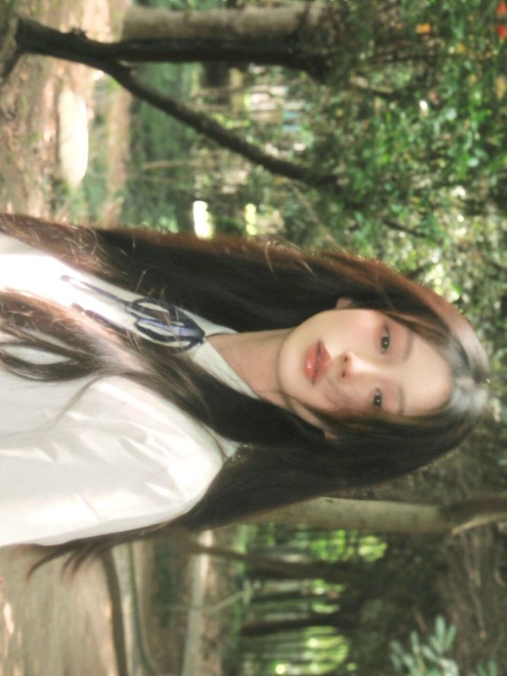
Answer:
[[309, 407], [422, 416], [451, 395], [451, 371], [435, 348], [375, 310], [337, 308], [289, 331], [277, 375], [287, 407], [313, 424]]

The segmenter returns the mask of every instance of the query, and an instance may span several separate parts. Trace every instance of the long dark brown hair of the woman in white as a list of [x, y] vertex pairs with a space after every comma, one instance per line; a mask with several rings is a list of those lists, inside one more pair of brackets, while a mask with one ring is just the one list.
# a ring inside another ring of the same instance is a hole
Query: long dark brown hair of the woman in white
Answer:
[[[337, 419], [319, 413], [333, 430], [330, 440], [293, 413], [224, 385], [185, 354], [40, 298], [0, 291], [0, 329], [12, 336], [10, 346], [0, 344], [4, 368], [47, 381], [130, 378], [239, 445], [204, 498], [172, 524], [45, 547], [44, 560], [69, 552], [79, 564], [90, 553], [160, 534], [174, 524], [216, 526], [395, 478], [459, 444], [484, 407], [487, 361], [466, 319], [433, 291], [379, 261], [241, 238], [101, 230], [12, 214], [0, 216], [0, 232], [83, 272], [143, 296], [165, 298], [236, 331], [294, 327], [335, 307], [338, 298], [350, 298], [355, 307], [383, 311], [430, 341], [453, 372], [451, 399], [427, 416]], [[21, 359], [12, 345], [43, 350], [55, 360], [41, 365]]]

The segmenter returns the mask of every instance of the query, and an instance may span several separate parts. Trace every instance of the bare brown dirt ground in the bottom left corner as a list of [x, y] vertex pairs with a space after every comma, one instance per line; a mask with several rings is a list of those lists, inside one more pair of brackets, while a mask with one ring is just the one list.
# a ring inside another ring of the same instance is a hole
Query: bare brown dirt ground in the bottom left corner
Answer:
[[114, 676], [112, 603], [100, 562], [74, 580], [61, 564], [28, 584], [27, 553], [0, 550], [0, 673], [3, 676]]

